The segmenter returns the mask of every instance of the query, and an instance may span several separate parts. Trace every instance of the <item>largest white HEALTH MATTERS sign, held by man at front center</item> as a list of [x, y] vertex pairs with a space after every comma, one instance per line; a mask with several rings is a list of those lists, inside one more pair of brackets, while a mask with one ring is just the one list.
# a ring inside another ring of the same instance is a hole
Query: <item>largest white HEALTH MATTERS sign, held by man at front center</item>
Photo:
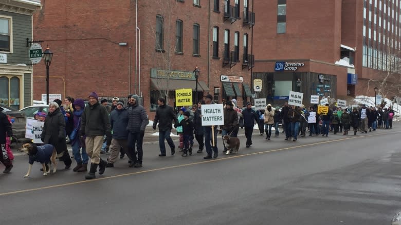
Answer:
[[223, 104], [202, 105], [202, 126], [224, 125]]

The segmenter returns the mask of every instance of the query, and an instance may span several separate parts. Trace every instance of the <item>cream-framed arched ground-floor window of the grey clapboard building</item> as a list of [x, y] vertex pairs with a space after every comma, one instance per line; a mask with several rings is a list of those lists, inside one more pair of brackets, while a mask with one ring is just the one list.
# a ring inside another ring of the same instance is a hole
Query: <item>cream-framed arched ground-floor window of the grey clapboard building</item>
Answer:
[[20, 109], [20, 78], [16, 76], [0, 77], [0, 104]]

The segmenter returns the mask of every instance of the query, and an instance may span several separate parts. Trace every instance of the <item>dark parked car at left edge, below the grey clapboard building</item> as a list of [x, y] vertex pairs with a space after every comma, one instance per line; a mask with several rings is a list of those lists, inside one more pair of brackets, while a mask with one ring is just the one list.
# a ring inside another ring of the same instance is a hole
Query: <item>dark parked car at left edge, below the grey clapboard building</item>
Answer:
[[14, 119], [14, 122], [12, 124], [12, 133], [14, 137], [17, 139], [25, 138], [25, 126], [26, 126], [25, 114], [14, 108], [4, 105], [0, 105], [0, 110], [4, 114], [6, 114], [9, 118]]

